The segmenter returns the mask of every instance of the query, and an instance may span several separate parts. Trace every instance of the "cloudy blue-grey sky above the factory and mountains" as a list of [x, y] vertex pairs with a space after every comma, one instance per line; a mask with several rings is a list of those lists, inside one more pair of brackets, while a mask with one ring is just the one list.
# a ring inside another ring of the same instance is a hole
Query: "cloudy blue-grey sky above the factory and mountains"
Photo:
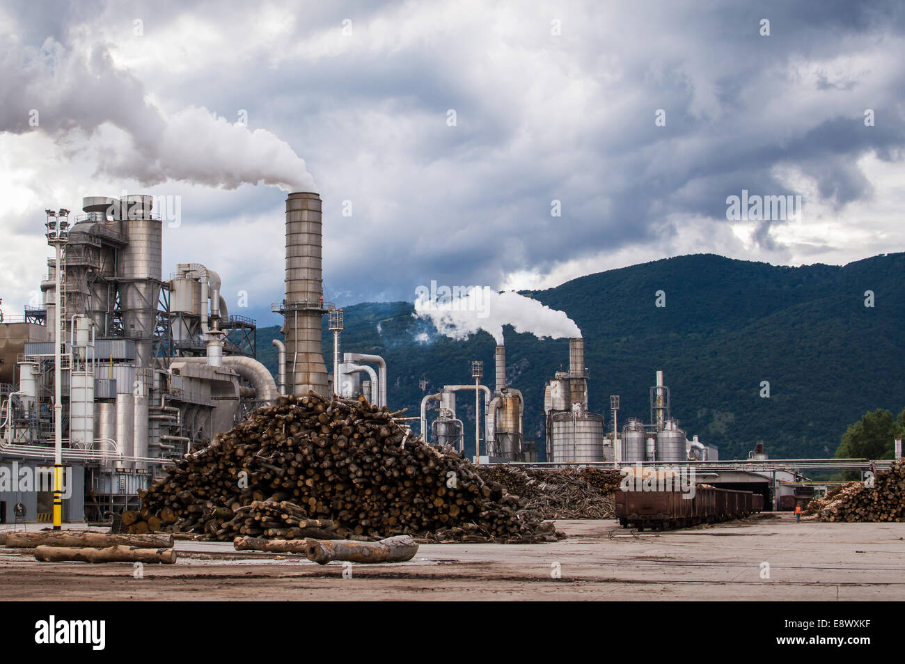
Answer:
[[[46, 271], [43, 210], [89, 194], [178, 201], [165, 275], [205, 263], [262, 324], [297, 188], [340, 304], [905, 249], [899, 3], [187, 5], [0, 5], [7, 316]], [[803, 205], [728, 219], [742, 190]]]

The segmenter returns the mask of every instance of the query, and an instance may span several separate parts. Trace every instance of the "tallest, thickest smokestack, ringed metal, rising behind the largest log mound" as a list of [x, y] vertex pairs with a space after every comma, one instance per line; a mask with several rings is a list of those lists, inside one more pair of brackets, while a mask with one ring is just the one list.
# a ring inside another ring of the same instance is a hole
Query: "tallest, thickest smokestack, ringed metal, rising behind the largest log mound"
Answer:
[[289, 194], [286, 199], [285, 318], [287, 391], [309, 390], [329, 397], [327, 366], [320, 347], [320, 319], [327, 312], [322, 296], [320, 263], [320, 196]]

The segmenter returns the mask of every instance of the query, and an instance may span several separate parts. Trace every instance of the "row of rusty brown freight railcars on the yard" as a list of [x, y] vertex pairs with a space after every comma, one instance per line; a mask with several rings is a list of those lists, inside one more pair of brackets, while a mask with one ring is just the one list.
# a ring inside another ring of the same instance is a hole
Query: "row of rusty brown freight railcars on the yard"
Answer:
[[718, 489], [706, 484], [694, 496], [673, 491], [615, 492], [615, 512], [623, 527], [667, 530], [744, 518], [762, 511], [764, 497], [751, 491]]

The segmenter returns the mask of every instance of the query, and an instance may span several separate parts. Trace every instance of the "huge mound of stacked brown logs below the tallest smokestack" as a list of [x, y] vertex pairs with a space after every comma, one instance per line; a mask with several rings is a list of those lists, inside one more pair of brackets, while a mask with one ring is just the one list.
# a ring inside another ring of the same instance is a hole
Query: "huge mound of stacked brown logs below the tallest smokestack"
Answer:
[[363, 397], [281, 397], [178, 460], [142, 492], [130, 527], [159, 519], [161, 529], [221, 541], [433, 538], [451, 528], [498, 541], [557, 538], [451, 448], [410, 438], [399, 414]]

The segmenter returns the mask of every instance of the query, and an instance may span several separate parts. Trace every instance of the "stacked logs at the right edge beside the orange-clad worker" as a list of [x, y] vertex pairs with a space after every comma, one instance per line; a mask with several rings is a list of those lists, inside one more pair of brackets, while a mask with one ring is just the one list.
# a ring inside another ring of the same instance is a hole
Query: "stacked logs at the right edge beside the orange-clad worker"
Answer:
[[[872, 485], [872, 486], [871, 486]], [[821, 521], [905, 521], [905, 464], [878, 470], [872, 482], [850, 482], [812, 500], [805, 513]]]

